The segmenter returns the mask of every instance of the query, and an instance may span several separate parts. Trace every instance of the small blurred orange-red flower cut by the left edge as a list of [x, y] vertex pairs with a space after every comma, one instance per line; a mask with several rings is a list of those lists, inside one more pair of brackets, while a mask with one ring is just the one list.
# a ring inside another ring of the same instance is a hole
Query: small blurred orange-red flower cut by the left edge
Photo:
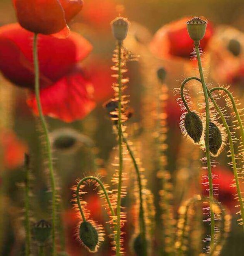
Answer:
[[15, 169], [23, 165], [24, 153], [28, 151], [27, 145], [19, 140], [10, 130], [0, 132], [3, 165], [7, 169]]

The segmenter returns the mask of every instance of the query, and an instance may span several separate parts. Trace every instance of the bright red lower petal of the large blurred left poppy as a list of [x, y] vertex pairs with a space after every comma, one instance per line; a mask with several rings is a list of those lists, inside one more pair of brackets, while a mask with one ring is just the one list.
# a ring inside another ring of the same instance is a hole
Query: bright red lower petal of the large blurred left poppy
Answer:
[[[43, 114], [67, 123], [82, 119], [94, 109], [94, 88], [81, 72], [72, 73], [40, 92]], [[34, 95], [27, 100], [29, 107], [38, 114]]]

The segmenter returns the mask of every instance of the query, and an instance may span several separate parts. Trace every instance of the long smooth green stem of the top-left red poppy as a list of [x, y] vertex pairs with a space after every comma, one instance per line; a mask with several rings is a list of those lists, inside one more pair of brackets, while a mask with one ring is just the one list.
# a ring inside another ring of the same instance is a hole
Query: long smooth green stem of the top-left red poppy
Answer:
[[41, 120], [42, 129], [44, 131], [45, 140], [46, 140], [46, 153], [48, 155], [48, 168], [51, 176], [51, 189], [52, 189], [52, 255], [56, 255], [56, 243], [55, 243], [55, 228], [56, 228], [56, 186], [55, 186], [55, 177], [54, 170], [52, 166], [52, 149], [48, 136], [48, 127], [41, 108], [40, 100], [40, 84], [39, 84], [39, 61], [38, 61], [38, 50], [37, 50], [37, 34], [34, 35], [33, 42], [33, 59], [35, 67], [35, 96], [37, 100], [37, 107], [39, 112], [39, 117]]

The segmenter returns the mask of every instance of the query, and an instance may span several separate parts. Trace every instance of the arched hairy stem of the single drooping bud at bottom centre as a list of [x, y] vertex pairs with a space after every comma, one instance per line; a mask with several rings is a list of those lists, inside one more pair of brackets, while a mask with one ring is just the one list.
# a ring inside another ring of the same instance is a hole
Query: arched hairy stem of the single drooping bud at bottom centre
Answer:
[[83, 221], [86, 221], [86, 219], [85, 219], [85, 214], [84, 214], [84, 212], [83, 212], [83, 210], [82, 210], [82, 207], [81, 207], [81, 202], [80, 202], [80, 197], [79, 197], [79, 191], [80, 191], [81, 185], [82, 185], [87, 179], [93, 179], [93, 180], [95, 180], [95, 181], [101, 186], [102, 191], [103, 191], [103, 193], [104, 193], [104, 195], [105, 195], [105, 197], [106, 197], [106, 200], [107, 200], [107, 202], [108, 202], [111, 215], [112, 215], [112, 216], [115, 216], [115, 212], [114, 212], [113, 207], [112, 207], [112, 205], [111, 205], [111, 202], [110, 202], [110, 199], [109, 199], [109, 195], [108, 195], [108, 193], [107, 193], [107, 190], [106, 190], [106, 188], [103, 186], [103, 184], [102, 184], [102, 182], [100, 181], [100, 179], [98, 179], [98, 178], [96, 178], [96, 177], [94, 177], [94, 176], [87, 176], [87, 177], [84, 177], [83, 179], [80, 180], [80, 182], [77, 184], [77, 188], [76, 188], [76, 200], [77, 200], [78, 208], [79, 208], [79, 210], [80, 210], [80, 212], [81, 212], [81, 216], [82, 216]]

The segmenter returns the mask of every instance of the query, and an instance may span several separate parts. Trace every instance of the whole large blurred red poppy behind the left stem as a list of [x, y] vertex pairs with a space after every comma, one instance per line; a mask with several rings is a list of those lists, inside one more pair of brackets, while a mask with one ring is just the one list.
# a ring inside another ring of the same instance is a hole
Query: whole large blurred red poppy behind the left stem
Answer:
[[[19, 24], [0, 28], [0, 71], [18, 86], [34, 90], [33, 33]], [[78, 61], [90, 52], [91, 44], [77, 33], [70, 37], [39, 35], [40, 97], [45, 115], [72, 122], [87, 115], [94, 107], [93, 86]], [[37, 113], [35, 96], [28, 105]]]

